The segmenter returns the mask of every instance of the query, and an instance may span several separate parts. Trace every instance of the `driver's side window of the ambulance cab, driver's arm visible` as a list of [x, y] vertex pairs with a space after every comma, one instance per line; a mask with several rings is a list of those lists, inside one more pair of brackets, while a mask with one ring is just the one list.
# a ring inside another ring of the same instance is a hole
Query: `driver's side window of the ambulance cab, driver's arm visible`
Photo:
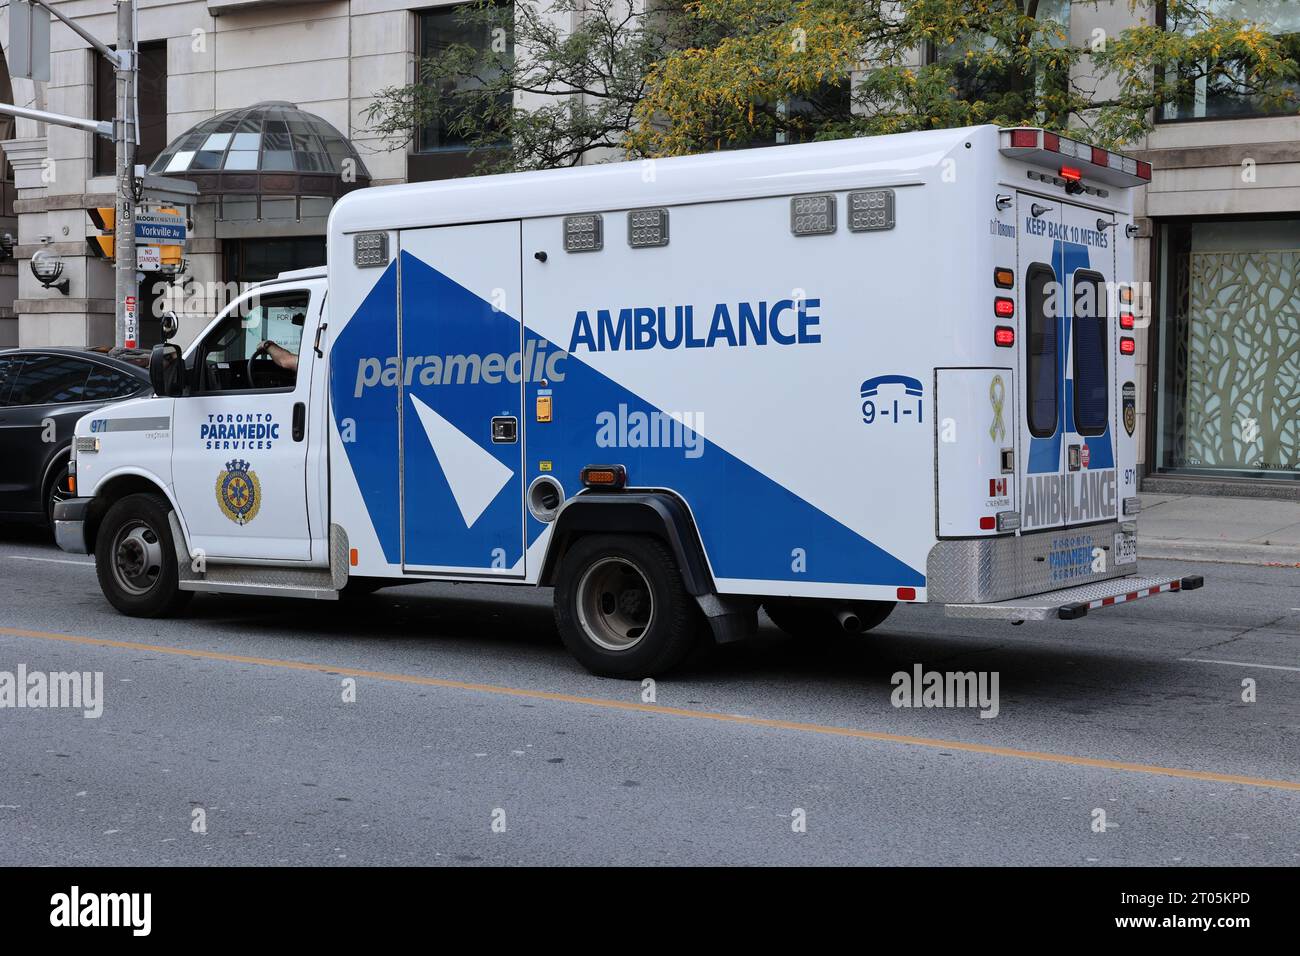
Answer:
[[268, 293], [240, 302], [199, 349], [203, 392], [294, 388], [311, 293]]

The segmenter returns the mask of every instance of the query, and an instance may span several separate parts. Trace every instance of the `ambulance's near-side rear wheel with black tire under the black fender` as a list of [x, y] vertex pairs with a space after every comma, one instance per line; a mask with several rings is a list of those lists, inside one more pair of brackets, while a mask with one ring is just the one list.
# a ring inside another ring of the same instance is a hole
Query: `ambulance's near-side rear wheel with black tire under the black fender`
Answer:
[[595, 535], [578, 538], [560, 562], [555, 624], [593, 674], [640, 679], [681, 663], [702, 633], [703, 615], [663, 541]]

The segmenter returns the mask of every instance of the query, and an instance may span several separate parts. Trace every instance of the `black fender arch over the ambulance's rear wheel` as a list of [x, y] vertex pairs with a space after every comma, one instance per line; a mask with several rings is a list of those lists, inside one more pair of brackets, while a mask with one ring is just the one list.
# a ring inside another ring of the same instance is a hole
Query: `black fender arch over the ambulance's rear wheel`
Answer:
[[692, 594], [714, 593], [696, 523], [679, 498], [666, 493], [619, 492], [573, 498], [555, 519], [538, 584], [552, 587], [564, 553], [584, 535], [653, 535], [677, 558]]

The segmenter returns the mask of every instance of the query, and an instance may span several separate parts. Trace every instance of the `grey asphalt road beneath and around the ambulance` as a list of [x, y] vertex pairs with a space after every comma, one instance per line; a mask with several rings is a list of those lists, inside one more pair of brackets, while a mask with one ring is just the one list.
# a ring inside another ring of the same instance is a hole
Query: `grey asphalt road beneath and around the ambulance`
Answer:
[[[568, 657], [546, 591], [134, 620], [0, 529], [0, 671], [104, 675], [99, 718], [0, 710], [0, 864], [1300, 862], [1300, 570], [1143, 570], [1206, 587], [827, 646], [764, 622], [646, 704]], [[918, 663], [996, 672], [997, 717], [893, 706]]]

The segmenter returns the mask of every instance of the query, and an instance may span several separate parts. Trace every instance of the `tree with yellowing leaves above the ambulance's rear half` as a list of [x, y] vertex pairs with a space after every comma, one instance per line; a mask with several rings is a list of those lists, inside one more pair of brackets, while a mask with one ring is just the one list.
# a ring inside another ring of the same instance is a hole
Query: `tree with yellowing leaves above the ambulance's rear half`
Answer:
[[[1284, 1], [1235, 7], [1266, 16]], [[1076, 10], [1096, 4], [1074, 0]], [[628, 148], [673, 155], [755, 133], [835, 139], [984, 122], [1119, 147], [1197, 83], [1295, 109], [1295, 38], [1216, 13], [1222, 5], [1166, 0], [1179, 30], [1139, 20], [1072, 43], [1060, 0], [693, 0], [689, 13], [719, 39], [655, 64]], [[850, 90], [836, 112], [788, 105], [836, 86]]]

